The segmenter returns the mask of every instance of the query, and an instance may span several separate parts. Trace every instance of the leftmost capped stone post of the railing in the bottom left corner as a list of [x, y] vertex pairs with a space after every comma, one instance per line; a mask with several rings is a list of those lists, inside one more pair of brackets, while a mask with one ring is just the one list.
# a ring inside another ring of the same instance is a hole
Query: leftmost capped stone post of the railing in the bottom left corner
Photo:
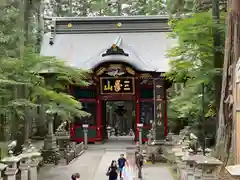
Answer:
[[5, 170], [7, 180], [16, 180], [16, 174], [18, 172], [17, 163], [20, 161], [20, 159], [21, 157], [19, 156], [11, 156], [2, 159], [2, 162], [8, 166]]

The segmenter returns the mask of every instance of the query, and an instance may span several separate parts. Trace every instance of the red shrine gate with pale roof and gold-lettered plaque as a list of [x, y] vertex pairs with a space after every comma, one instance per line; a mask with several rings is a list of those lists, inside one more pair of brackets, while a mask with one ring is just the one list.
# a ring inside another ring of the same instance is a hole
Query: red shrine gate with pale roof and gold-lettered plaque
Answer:
[[82, 124], [86, 122], [89, 142], [107, 138], [108, 101], [131, 102], [129, 121], [133, 122], [136, 140], [139, 123], [143, 124], [143, 141], [147, 141], [153, 123], [155, 138], [164, 139], [168, 133], [169, 83], [163, 74], [169, 68], [165, 53], [173, 44], [167, 39], [168, 18], [78, 17], [53, 18], [52, 22], [51, 32], [44, 35], [41, 55], [91, 70], [89, 86], [71, 86], [72, 95], [91, 113], [89, 118], [75, 120], [73, 140], [83, 141]]

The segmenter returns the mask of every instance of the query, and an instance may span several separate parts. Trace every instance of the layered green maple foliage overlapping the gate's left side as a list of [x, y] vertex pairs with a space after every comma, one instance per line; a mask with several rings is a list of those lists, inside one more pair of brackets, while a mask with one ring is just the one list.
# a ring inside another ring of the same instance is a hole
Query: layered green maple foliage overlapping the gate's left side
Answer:
[[[48, 76], [43, 72], [47, 72]], [[86, 85], [87, 82], [82, 80], [86, 77], [87, 73], [79, 69], [69, 67], [52, 57], [40, 57], [27, 49], [22, 59], [1, 58], [0, 115], [5, 117], [10, 126], [9, 131], [23, 120], [39, 119], [39, 109], [43, 112], [50, 111], [52, 115], [57, 114], [60, 119], [68, 121], [75, 116], [88, 116], [88, 113], [82, 111], [78, 100], [64, 93], [67, 85], [73, 82]], [[42, 118], [40, 120], [46, 120]]]

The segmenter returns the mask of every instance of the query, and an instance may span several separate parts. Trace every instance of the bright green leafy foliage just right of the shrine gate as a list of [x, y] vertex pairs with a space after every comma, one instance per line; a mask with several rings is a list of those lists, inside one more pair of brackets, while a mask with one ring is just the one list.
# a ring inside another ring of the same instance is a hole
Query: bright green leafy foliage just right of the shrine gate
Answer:
[[[171, 94], [169, 114], [173, 119], [199, 119], [202, 109], [202, 84], [205, 86], [205, 117], [215, 116], [214, 77], [220, 73], [213, 63], [213, 29], [222, 32], [223, 52], [224, 21], [215, 24], [210, 13], [198, 13], [181, 20], [173, 19], [171, 38], [177, 45], [167, 53], [171, 59], [169, 80], [184, 84], [184, 88]], [[189, 118], [191, 117], [191, 118]]]

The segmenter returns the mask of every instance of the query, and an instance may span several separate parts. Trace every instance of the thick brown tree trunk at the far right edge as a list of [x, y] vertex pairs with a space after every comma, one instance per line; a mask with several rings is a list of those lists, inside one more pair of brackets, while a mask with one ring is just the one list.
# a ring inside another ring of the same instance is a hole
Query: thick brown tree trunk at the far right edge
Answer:
[[227, 165], [231, 162], [233, 134], [233, 77], [239, 58], [240, 38], [240, 1], [228, 0], [227, 32], [225, 41], [225, 56], [222, 79], [222, 95], [219, 109], [219, 127], [217, 133], [217, 156]]

